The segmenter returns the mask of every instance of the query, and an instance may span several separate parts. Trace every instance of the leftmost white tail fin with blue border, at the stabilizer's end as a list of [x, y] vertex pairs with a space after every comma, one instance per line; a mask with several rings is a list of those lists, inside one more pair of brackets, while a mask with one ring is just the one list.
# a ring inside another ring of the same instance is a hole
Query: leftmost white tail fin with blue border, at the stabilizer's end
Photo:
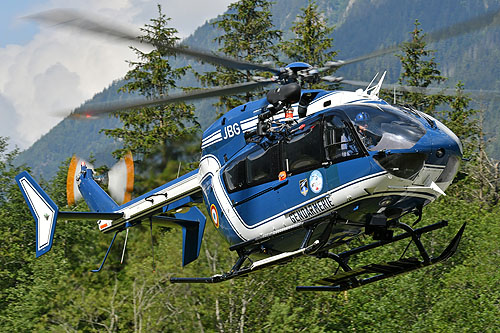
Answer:
[[16, 181], [35, 218], [36, 257], [38, 258], [52, 247], [59, 209], [26, 171], [18, 174]]

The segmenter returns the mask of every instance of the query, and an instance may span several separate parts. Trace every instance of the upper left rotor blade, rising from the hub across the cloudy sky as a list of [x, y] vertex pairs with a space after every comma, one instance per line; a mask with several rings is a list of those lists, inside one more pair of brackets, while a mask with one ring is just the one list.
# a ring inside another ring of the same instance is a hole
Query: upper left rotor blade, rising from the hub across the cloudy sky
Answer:
[[[105, 18], [96, 19], [95, 17], [97, 16], [93, 15], [93, 17], [91, 18], [88, 14], [79, 12], [74, 9], [52, 9], [28, 15], [25, 18], [43, 24], [49, 24], [53, 26], [70, 26], [85, 32], [90, 32], [101, 36], [111, 36], [127, 42], [140, 43], [140, 40], [137, 38], [136, 34], [129, 28], [109, 23], [107, 22], [109, 20]], [[166, 45], [164, 43], [160, 45], [151, 45], [155, 47], [162, 46], [169, 49], [175, 54], [182, 54], [184, 56], [195, 58], [203, 62], [221, 65], [233, 69], [259, 70], [271, 72], [274, 74], [280, 73], [278, 69], [266, 66], [264, 64], [257, 64], [223, 55], [216, 55], [209, 51], [187, 48], [183, 45], [172, 46]]]

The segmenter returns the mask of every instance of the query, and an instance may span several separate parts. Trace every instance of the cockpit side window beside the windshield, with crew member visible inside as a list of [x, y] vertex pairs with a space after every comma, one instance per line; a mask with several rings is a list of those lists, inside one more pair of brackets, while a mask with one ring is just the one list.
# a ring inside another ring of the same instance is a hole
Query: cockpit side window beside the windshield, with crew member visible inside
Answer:
[[329, 162], [335, 163], [362, 154], [349, 125], [338, 115], [325, 117], [323, 142]]

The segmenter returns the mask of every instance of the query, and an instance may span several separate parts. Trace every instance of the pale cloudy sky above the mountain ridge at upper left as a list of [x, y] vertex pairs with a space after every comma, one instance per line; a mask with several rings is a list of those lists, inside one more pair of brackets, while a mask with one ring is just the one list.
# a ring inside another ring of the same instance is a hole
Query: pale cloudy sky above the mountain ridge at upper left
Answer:
[[235, 0], [5, 0], [0, 4], [0, 136], [28, 148], [75, 107], [125, 75], [134, 53], [112, 38], [41, 26], [22, 17], [74, 8], [139, 27], [157, 17], [185, 38]]

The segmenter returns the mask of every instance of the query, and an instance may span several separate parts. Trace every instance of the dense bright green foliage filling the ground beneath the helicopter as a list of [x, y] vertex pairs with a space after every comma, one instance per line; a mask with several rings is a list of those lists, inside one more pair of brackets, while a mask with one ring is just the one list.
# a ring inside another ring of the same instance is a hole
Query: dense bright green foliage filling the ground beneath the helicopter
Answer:
[[[469, 109], [461, 85], [457, 89], [450, 108], [439, 116], [462, 138], [466, 151], [467, 147], [474, 150], [476, 126], [482, 124], [471, 118], [475, 111]], [[185, 143], [175, 141], [167, 147], [167, 163], [143, 169], [140, 191], [177, 176], [178, 161], [188, 159], [183, 156]], [[458, 253], [445, 263], [345, 293], [294, 291], [296, 285], [314, 283], [335, 271], [333, 262], [313, 257], [221, 284], [170, 284], [171, 276], [210, 276], [232, 266], [235, 255], [215, 228], [207, 225], [200, 258], [184, 268], [180, 268], [181, 231], [153, 229], [153, 270], [149, 227], [140, 225], [130, 230], [125, 264], [119, 264], [124, 243], [124, 235], [119, 235], [104, 269], [93, 274], [89, 270], [102, 260], [111, 235], [100, 234], [93, 223], [59, 221], [54, 248], [35, 260], [33, 219], [13, 181], [21, 170], [12, 162], [17, 151], [6, 154], [6, 145], [0, 138], [1, 331], [500, 330], [500, 208], [456, 195], [471, 183], [452, 185], [448, 196], [424, 210], [422, 223], [450, 221], [449, 227], [423, 237], [434, 255], [444, 249], [463, 221], [468, 222]], [[195, 153], [199, 147], [189, 149]], [[155, 165], [155, 158], [146, 157], [144, 163]], [[191, 167], [183, 161], [180, 173]], [[64, 207], [66, 170], [67, 165], [61, 164], [56, 176], [42, 183], [63, 210], [69, 209]], [[85, 207], [80, 203], [73, 209]], [[382, 247], [352, 258], [350, 264], [397, 259], [406, 245]], [[416, 249], [411, 246], [409, 251], [415, 253]]]

